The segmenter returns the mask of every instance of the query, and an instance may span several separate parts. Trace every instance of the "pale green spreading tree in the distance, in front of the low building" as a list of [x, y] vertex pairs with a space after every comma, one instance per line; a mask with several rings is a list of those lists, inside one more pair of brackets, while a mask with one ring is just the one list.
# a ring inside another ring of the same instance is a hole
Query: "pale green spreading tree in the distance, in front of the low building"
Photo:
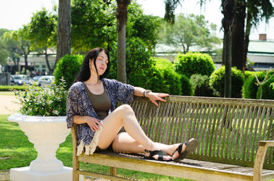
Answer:
[[207, 47], [210, 50], [214, 44], [221, 42], [215, 36], [216, 25], [208, 23], [203, 15], [179, 14], [173, 25], [162, 23], [162, 29], [164, 43], [183, 48], [184, 53], [191, 46]]

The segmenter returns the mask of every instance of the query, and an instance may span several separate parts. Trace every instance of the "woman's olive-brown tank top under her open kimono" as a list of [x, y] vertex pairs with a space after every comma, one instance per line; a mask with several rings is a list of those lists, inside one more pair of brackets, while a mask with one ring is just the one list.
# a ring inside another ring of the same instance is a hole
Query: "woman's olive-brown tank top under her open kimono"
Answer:
[[110, 111], [111, 108], [110, 98], [108, 97], [108, 94], [105, 91], [105, 86], [103, 86], [103, 94], [97, 95], [92, 94], [92, 92], [90, 92], [86, 84], [84, 85], [86, 87], [88, 99], [90, 100], [92, 107], [95, 109], [95, 112], [99, 117], [99, 120], [105, 119], [105, 117], [108, 116], [108, 111]]

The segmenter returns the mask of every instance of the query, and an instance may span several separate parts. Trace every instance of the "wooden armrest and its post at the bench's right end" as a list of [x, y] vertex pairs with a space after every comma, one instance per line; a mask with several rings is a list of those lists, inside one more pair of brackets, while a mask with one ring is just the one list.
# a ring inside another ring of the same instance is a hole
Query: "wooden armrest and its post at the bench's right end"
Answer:
[[274, 141], [260, 141], [254, 163], [253, 180], [262, 180], [262, 166], [264, 164], [264, 157], [266, 155], [267, 148], [270, 146], [274, 146]]

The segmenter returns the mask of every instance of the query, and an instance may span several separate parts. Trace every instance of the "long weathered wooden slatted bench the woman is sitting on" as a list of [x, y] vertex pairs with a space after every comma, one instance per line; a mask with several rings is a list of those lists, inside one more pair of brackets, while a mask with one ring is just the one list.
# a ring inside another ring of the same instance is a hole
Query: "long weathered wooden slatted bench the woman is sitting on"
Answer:
[[[192, 180], [269, 180], [274, 178], [274, 100], [169, 96], [155, 107], [147, 98], [131, 104], [145, 133], [160, 143], [199, 141], [181, 162], [150, 161], [141, 154], [94, 153], [76, 156], [73, 135], [73, 180], [80, 175], [108, 180], [116, 168]], [[268, 140], [268, 141], [266, 141]], [[79, 162], [110, 167], [110, 175], [79, 169]], [[264, 167], [264, 169], [262, 168]]]

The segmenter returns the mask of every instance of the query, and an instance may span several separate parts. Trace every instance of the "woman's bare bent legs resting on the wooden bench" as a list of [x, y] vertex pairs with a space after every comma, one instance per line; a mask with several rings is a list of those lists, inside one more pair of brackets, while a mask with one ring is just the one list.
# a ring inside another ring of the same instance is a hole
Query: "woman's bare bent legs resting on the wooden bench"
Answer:
[[[128, 135], [117, 135], [122, 126], [124, 126]], [[112, 143], [112, 141], [114, 141], [114, 143]], [[171, 152], [171, 146], [155, 143], [145, 135], [140, 124], [136, 120], [134, 111], [129, 105], [121, 105], [103, 120], [103, 130], [99, 138], [98, 146], [101, 149], [108, 148], [110, 143], [112, 143], [112, 147], [117, 152], [144, 153], [145, 149], [167, 150], [168, 152]], [[171, 159], [171, 156], [166, 156], [164, 159]]]

